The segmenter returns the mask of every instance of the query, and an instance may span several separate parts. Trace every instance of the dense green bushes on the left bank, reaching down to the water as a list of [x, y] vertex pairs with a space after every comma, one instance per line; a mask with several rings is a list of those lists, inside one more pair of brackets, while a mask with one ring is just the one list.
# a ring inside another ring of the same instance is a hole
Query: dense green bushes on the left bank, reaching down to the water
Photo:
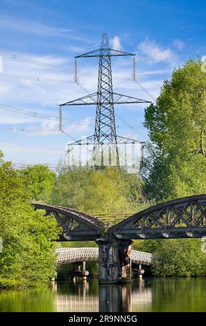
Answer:
[[2, 155], [0, 184], [0, 286], [47, 282], [55, 275], [55, 218], [34, 211], [21, 176]]

